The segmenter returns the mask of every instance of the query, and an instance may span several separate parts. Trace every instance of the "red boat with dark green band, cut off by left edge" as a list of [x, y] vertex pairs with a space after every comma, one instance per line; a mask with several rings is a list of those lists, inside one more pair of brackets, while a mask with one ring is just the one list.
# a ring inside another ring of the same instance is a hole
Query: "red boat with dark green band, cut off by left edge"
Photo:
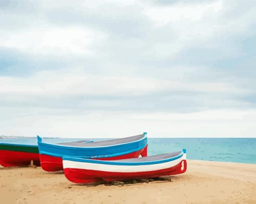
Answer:
[[[91, 140], [80, 140], [71, 142], [73, 145], [79, 145]], [[61, 145], [70, 145], [70, 142], [58, 143]], [[0, 143], [0, 165], [4, 167], [26, 166], [31, 164], [40, 166], [38, 145]]]

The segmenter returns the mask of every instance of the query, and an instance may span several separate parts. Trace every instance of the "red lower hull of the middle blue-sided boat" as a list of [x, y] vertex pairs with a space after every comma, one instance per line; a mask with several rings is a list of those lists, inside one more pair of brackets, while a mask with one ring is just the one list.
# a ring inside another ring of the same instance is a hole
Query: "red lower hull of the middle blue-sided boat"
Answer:
[[[144, 149], [141, 149], [139, 151], [135, 151], [129, 154], [124, 154], [124, 155], [114, 156], [114, 157], [97, 158], [97, 160], [129, 159], [129, 158], [139, 157], [140, 155], [147, 156], [147, 153], [148, 153], [148, 145]], [[40, 162], [41, 162], [41, 167], [45, 171], [53, 172], [53, 171], [63, 170], [62, 157], [40, 154]]]

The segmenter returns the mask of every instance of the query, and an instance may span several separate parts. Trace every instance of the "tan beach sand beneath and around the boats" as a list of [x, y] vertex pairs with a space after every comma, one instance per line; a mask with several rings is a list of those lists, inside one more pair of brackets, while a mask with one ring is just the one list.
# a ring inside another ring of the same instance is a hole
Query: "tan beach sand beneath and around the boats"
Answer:
[[41, 167], [0, 168], [1, 203], [256, 203], [256, 164], [188, 160], [173, 181], [74, 184]]

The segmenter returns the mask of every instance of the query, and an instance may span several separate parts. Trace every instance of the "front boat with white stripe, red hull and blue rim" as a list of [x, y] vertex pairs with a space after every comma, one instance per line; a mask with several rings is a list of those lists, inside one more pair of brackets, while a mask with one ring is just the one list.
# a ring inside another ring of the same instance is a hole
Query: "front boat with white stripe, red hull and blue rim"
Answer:
[[145, 179], [184, 173], [186, 149], [141, 158], [102, 161], [63, 157], [64, 173], [74, 183]]

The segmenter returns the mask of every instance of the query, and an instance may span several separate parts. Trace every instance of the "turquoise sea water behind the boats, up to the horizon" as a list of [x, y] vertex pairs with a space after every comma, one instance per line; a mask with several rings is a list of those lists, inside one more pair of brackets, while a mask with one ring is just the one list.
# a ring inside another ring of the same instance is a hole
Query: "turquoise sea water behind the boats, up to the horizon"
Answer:
[[[44, 138], [44, 141], [48, 143], [76, 140], [81, 140], [81, 138]], [[0, 142], [37, 144], [36, 138], [0, 139]], [[186, 148], [188, 159], [256, 164], [256, 138], [148, 138], [148, 145], [149, 155], [180, 151]]]

